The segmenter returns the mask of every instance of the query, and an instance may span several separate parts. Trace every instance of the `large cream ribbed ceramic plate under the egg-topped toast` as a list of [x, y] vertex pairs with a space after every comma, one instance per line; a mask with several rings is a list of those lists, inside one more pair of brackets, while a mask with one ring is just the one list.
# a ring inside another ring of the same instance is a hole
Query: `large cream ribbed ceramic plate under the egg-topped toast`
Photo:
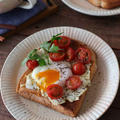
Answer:
[[[54, 27], [37, 32], [20, 42], [7, 57], [1, 72], [1, 95], [8, 111], [17, 120], [73, 120], [16, 94], [16, 84], [25, 69], [21, 61], [30, 50], [60, 32], [82, 41], [97, 54], [98, 71], [79, 115], [74, 120], [96, 120], [111, 105], [118, 89], [119, 68], [112, 49], [98, 36], [74, 27]], [[113, 82], [114, 80], [114, 82]]]

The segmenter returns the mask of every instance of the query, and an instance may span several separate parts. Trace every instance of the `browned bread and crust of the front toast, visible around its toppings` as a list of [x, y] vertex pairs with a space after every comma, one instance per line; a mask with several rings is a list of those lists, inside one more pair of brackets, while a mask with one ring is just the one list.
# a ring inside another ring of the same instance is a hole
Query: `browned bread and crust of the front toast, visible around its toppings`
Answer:
[[[82, 43], [78, 43], [77, 41], [72, 41], [72, 47], [74, 48], [78, 48], [79, 46], [83, 45]], [[84, 45], [86, 46], [86, 45]], [[87, 47], [87, 46], [86, 46]], [[97, 69], [97, 66], [96, 66], [96, 55], [95, 53], [93, 52], [93, 50], [91, 50], [91, 53], [92, 53], [92, 65], [90, 67], [90, 80], [92, 80], [95, 72], [96, 72], [96, 69]], [[66, 102], [64, 104], [61, 104], [61, 105], [53, 105], [48, 98], [46, 97], [43, 97], [41, 96], [41, 94], [39, 92], [37, 92], [36, 90], [30, 90], [30, 89], [27, 89], [24, 87], [20, 87], [21, 84], [25, 84], [26, 82], [26, 75], [28, 75], [29, 73], [31, 73], [32, 71], [31, 70], [27, 70], [23, 76], [20, 78], [19, 80], [19, 83], [16, 87], [16, 92], [18, 94], [20, 94], [21, 96], [29, 99], [29, 100], [32, 100], [32, 101], [35, 101], [35, 102], [38, 102], [40, 104], [43, 104], [44, 106], [47, 106], [51, 109], [54, 109], [58, 112], [61, 112], [65, 115], [68, 115], [68, 116], [72, 116], [72, 117], [75, 117], [77, 116], [82, 104], [83, 104], [83, 101], [84, 101], [84, 98], [85, 98], [85, 95], [86, 95], [86, 92], [84, 92], [79, 100], [75, 101], [75, 102]]]

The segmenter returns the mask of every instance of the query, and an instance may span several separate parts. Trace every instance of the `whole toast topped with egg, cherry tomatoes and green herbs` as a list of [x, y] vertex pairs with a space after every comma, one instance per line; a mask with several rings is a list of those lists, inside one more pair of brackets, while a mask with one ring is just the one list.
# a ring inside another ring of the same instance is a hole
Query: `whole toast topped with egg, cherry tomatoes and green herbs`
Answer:
[[62, 33], [32, 50], [16, 92], [63, 114], [77, 116], [96, 72], [96, 55]]

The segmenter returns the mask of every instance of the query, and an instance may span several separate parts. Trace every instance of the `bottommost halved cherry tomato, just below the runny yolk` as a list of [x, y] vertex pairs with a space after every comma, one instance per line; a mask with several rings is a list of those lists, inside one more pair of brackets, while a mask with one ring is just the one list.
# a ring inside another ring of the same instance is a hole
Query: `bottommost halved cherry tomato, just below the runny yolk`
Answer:
[[59, 99], [63, 96], [63, 88], [60, 85], [49, 85], [46, 90], [51, 99]]

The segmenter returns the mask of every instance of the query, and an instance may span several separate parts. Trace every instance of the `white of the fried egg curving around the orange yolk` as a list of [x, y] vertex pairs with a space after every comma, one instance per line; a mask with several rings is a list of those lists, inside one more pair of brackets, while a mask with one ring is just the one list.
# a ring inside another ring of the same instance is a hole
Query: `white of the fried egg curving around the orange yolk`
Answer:
[[[53, 62], [52, 65], [47, 66], [38, 66], [36, 67], [30, 75], [27, 76], [26, 79], [26, 88], [28, 89], [38, 89], [36, 82], [38, 81], [36, 75], [40, 72], [44, 72], [46, 70], [56, 70], [59, 71], [60, 77], [59, 80], [54, 84], [59, 84], [60, 86], [65, 85], [66, 79], [72, 76], [72, 71], [70, 69], [70, 64], [62, 61], [62, 62]], [[40, 89], [40, 88], [39, 88]]]

